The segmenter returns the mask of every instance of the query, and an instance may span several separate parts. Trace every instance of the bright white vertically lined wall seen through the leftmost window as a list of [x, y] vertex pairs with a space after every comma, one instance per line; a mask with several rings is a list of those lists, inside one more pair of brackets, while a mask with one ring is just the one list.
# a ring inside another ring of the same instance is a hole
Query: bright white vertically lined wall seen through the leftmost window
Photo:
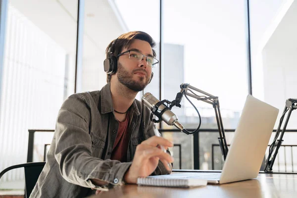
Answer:
[[[8, 5], [0, 100], [0, 170], [26, 163], [28, 129], [54, 128], [63, 102], [65, 61], [63, 48]], [[48, 136], [37, 138], [35, 143], [44, 142], [44, 138]], [[43, 150], [36, 153], [43, 154]], [[23, 179], [20, 171], [9, 171], [1, 181]]]

